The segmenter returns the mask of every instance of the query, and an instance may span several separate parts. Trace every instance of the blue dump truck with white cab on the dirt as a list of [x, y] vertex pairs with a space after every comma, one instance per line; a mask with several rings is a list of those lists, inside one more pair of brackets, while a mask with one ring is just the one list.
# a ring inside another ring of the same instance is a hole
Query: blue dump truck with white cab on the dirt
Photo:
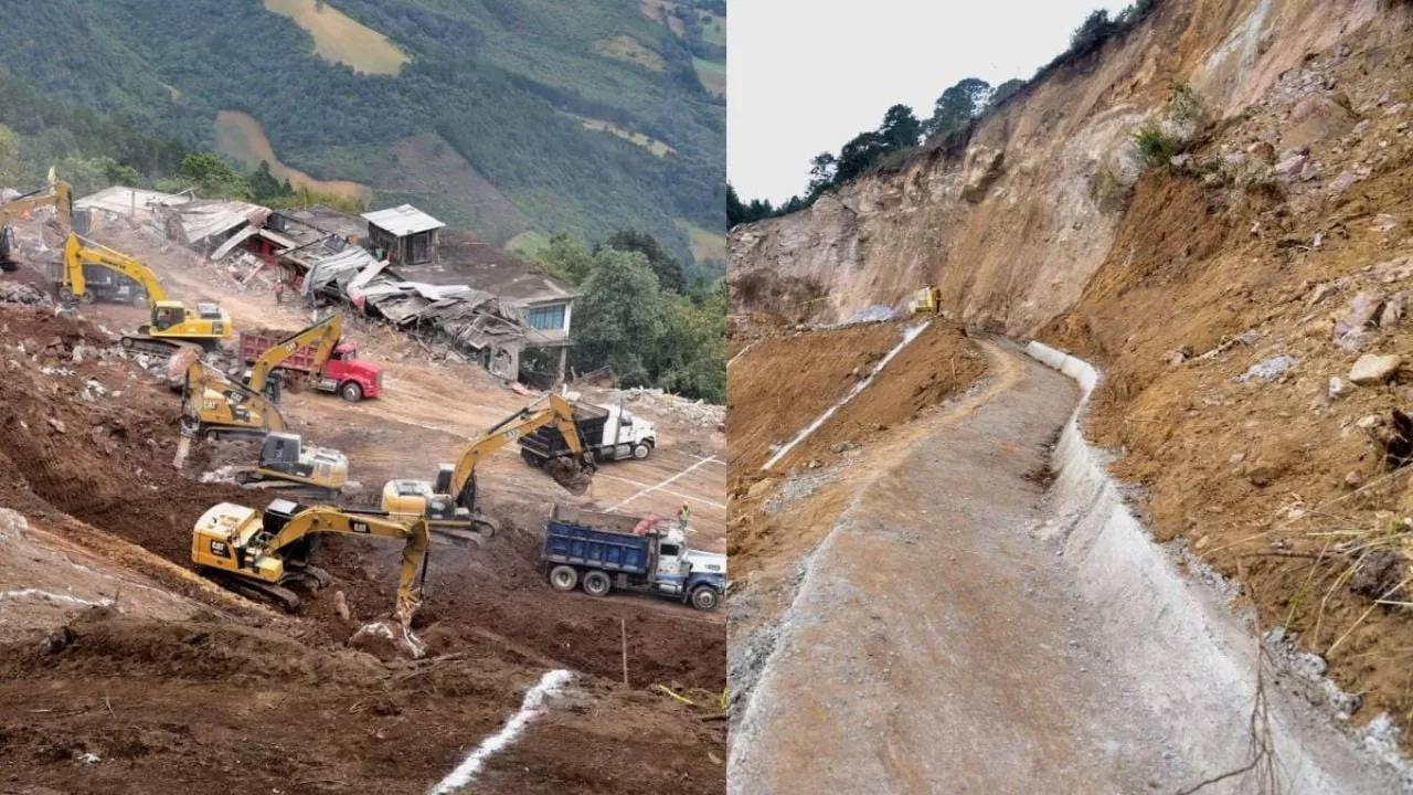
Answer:
[[[643, 532], [634, 532], [642, 529]], [[726, 556], [687, 547], [675, 522], [555, 505], [540, 562], [550, 587], [589, 596], [613, 588], [647, 591], [697, 610], [715, 610], [726, 593]]]

